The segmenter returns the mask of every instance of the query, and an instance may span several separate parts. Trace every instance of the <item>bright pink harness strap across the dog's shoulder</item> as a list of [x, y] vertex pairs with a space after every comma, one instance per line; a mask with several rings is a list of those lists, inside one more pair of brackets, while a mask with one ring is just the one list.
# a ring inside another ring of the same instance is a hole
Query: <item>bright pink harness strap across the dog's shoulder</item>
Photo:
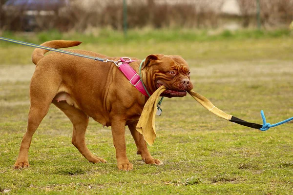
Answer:
[[122, 64], [117, 65], [119, 70], [125, 75], [125, 77], [129, 80], [129, 82], [136, 88], [138, 91], [140, 91], [142, 94], [144, 94], [146, 97], [149, 97], [146, 93], [146, 90], [143, 86], [142, 80], [140, 76], [136, 73], [135, 70], [131, 66], [129, 66], [129, 63], [134, 62], [136, 60], [125, 60], [126, 58], [120, 58]]

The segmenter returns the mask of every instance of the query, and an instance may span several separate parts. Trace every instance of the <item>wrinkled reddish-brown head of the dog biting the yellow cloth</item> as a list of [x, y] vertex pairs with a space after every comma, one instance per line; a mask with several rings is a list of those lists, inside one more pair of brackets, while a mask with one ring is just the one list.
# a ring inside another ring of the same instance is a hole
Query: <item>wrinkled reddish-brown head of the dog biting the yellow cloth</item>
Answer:
[[146, 69], [147, 85], [152, 91], [162, 85], [167, 88], [161, 96], [184, 97], [193, 88], [190, 68], [181, 56], [152, 54], [146, 57], [142, 69]]

